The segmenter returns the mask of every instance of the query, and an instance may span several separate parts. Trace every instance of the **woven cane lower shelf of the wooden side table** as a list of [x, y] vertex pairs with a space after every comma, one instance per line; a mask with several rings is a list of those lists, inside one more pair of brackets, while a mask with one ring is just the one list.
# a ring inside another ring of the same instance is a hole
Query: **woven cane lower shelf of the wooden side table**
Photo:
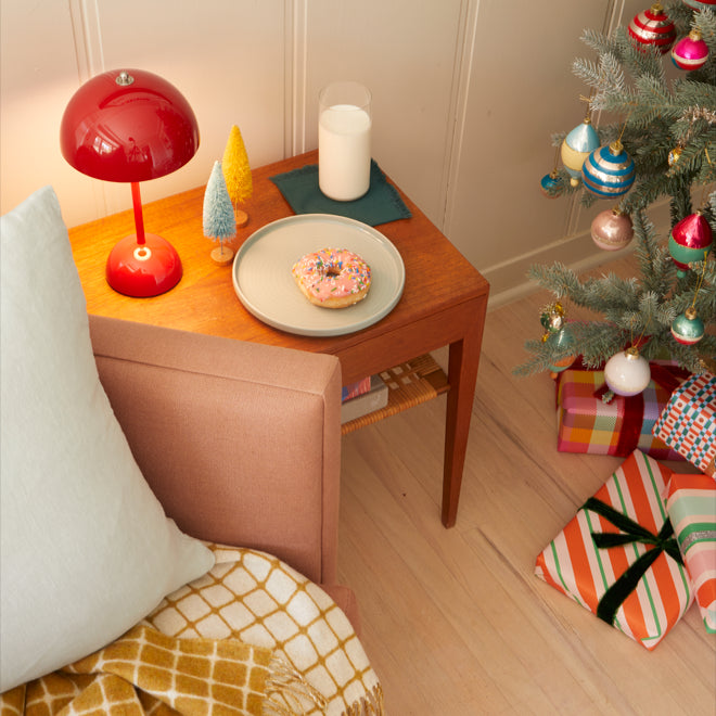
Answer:
[[380, 375], [388, 388], [387, 405], [380, 410], [343, 423], [341, 426], [343, 435], [432, 400], [450, 387], [447, 375], [430, 354], [389, 368]]

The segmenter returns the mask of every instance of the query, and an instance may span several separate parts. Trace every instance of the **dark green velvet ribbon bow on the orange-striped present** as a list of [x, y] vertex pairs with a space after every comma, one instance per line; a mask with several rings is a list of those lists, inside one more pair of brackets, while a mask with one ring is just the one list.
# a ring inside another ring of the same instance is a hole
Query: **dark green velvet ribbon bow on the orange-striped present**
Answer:
[[599, 549], [610, 549], [611, 547], [623, 547], [634, 542], [651, 545], [654, 549], [647, 550], [639, 559], [628, 566], [624, 574], [604, 592], [597, 606], [597, 616], [614, 624], [616, 612], [624, 600], [637, 588], [637, 585], [644, 576], [649, 567], [659, 559], [662, 552], [666, 552], [679, 564], [683, 564], [679, 545], [674, 537], [674, 527], [668, 517], [660, 529], [657, 535], [649, 532], [645, 527], [622, 514], [614, 508], [605, 504], [596, 497], [590, 497], [584, 504], [585, 510], [596, 512], [602, 517], [609, 520], [615, 527], [618, 527], [623, 534], [616, 533], [591, 533], [594, 545]]

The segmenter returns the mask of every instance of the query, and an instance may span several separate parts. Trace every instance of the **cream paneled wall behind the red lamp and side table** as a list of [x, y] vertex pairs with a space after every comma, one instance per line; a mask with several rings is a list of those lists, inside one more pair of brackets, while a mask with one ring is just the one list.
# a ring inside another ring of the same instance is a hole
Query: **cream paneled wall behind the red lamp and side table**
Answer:
[[[585, 27], [644, 0], [1, 0], [2, 213], [51, 183], [74, 226], [130, 206], [129, 188], [63, 161], [64, 106], [86, 79], [155, 72], [199, 118], [197, 155], [142, 186], [145, 201], [206, 182], [239, 125], [259, 166], [317, 144], [317, 95], [333, 79], [373, 93], [373, 156], [493, 284], [525, 287], [533, 261], [588, 265], [592, 212], [546, 200], [550, 132], [579, 124], [572, 75]], [[626, 20], [625, 20], [626, 18]]]

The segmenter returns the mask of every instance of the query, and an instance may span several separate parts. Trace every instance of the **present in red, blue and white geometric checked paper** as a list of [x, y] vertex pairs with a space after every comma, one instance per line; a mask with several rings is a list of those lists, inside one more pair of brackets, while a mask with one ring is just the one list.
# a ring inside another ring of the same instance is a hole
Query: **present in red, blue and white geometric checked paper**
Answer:
[[674, 391], [654, 435], [716, 477], [716, 375], [692, 375]]

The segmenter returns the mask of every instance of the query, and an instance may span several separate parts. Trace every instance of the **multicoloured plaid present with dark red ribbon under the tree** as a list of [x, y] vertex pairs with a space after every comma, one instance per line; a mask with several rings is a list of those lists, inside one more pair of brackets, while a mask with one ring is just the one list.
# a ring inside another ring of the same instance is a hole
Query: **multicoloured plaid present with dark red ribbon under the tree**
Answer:
[[688, 373], [652, 363], [652, 380], [639, 395], [606, 395], [604, 372], [571, 368], [558, 376], [557, 449], [626, 458], [636, 449], [657, 460], [683, 458], [652, 434], [672, 392]]

